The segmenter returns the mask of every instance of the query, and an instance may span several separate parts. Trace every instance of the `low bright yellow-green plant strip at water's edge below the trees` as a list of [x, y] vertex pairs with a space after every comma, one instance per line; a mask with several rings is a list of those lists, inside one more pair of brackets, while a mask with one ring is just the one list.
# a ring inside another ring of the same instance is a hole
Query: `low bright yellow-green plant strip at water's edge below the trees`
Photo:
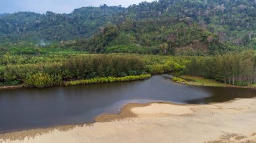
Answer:
[[137, 81], [141, 79], [148, 79], [151, 75], [131, 75], [126, 77], [95, 77], [93, 79], [83, 79], [79, 81], [68, 81], [64, 85], [90, 85], [95, 83], [115, 83], [125, 81]]

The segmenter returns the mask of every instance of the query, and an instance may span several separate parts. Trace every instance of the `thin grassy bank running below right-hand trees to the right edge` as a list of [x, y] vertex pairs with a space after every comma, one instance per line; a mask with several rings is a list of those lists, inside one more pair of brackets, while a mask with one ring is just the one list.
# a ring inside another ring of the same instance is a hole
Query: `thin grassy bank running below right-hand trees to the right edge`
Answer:
[[225, 83], [220, 83], [214, 79], [205, 79], [203, 77], [191, 76], [191, 75], [181, 75], [181, 79], [185, 79], [185, 82], [177, 82], [184, 85], [194, 85], [194, 86], [206, 86], [206, 87], [234, 87], [234, 88], [246, 88], [246, 89], [256, 89], [256, 86], [236, 86], [228, 85]]

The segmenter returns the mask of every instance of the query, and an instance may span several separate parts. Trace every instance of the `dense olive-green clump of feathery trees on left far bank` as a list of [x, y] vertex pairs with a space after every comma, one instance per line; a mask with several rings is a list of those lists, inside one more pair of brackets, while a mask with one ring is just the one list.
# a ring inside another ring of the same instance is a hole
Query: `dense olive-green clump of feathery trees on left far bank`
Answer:
[[[66, 79], [90, 79], [94, 77], [125, 77], [145, 73], [145, 64], [136, 56], [87, 55], [70, 58], [63, 63]], [[69, 76], [66, 75], [66, 73]]]

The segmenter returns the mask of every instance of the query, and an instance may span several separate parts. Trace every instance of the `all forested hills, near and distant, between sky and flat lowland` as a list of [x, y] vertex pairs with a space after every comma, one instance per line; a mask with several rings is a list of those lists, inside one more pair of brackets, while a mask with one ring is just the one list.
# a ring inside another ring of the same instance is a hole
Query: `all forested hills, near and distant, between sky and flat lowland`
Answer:
[[218, 54], [256, 48], [255, 7], [255, 0], [160, 0], [69, 14], [18, 12], [0, 16], [0, 42], [65, 41], [61, 45], [96, 53]]

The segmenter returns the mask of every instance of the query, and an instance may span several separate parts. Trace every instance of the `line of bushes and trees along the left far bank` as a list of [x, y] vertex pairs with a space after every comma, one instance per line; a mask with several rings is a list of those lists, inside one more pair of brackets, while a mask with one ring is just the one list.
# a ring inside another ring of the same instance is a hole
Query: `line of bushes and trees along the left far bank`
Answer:
[[61, 81], [95, 77], [125, 77], [146, 73], [146, 65], [136, 56], [86, 55], [64, 62], [7, 64], [0, 66], [0, 83], [20, 81], [32, 87], [59, 85]]

